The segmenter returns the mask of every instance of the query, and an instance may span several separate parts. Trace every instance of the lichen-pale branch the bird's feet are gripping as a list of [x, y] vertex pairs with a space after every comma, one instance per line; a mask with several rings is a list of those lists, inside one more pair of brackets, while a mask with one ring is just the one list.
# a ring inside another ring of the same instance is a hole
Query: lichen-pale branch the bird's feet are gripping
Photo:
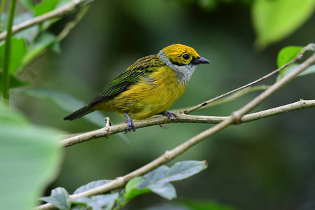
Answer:
[[[243, 116], [238, 123], [248, 123], [253, 120], [259, 120], [262, 118], [267, 118], [270, 116], [279, 115], [281, 113], [286, 113], [289, 111], [295, 111], [299, 109], [307, 109], [315, 107], [315, 100], [300, 100], [300, 102], [295, 102], [293, 104], [286, 104], [284, 106], [279, 106], [274, 109], [267, 109], [265, 111], [260, 111], [257, 113], [251, 113], [246, 116]], [[134, 126], [138, 128], [142, 127], [150, 127], [153, 125], [160, 125], [165, 123], [209, 123], [209, 124], [218, 124], [223, 120], [228, 119], [228, 117], [214, 117], [214, 116], [189, 116], [182, 112], [178, 114], [179, 118], [175, 118], [169, 121], [169, 119], [165, 116], [148, 118], [144, 120], [134, 121]], [[75, 144], [80, 144], [85, 141], [90, 141], [92, 139], [106, 137], [109, 138], [113, 134], [117, 134], [120, 132], [125, 132], [126, 123], [122, 123], [119, 125], [109, 126], [109, 118], [106, 118], [106, 127], [103, 127], [99, 130], [94, 130], [92, 132], [87, 132], [85, 134], [80, 134], [76, 137], [70, 137], [68, 139], [64, 139], [60, 141], [62, 146], [73, 146]]]

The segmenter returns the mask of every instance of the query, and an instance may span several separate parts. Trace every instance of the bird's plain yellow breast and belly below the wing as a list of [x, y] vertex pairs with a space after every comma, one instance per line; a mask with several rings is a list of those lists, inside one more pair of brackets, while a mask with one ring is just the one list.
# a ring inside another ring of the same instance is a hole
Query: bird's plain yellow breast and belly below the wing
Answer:
[[128, 113], [130, 118], [144, 119], [167, 111], [186, 90], [176, 72], [169, 66], [160, 67], [146, 78], [141, 78], [129, 90], [99, 104], [99, 109]]

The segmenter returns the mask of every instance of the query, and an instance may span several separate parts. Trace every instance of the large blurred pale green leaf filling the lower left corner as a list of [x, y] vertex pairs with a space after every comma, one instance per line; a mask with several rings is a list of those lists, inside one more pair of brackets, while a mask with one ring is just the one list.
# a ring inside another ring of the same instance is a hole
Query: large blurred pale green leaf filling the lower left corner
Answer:
[[13, 109], [0, 116], [1, 209], [32, 209], [59, 172], [62, 133], [31, 126]]

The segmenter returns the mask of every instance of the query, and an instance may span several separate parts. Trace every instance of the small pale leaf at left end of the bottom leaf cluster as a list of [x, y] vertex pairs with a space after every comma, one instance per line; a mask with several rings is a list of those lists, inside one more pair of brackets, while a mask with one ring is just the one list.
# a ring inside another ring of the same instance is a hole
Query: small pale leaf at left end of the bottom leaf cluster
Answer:
[[39, 200], [51, 203], [60, 210], [68, 210], [71, 208], [69, 193], [64, 188], [55, 188], [51, 190], [51, 195], [48, 197], [40, 197]]

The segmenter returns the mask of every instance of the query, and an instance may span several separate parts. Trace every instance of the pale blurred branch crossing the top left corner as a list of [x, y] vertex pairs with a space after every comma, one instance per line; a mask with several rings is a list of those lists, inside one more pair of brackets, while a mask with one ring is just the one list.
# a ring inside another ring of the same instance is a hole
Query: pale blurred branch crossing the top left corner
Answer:
[[[15, 34], [18, 31], [21, 31], [22, 29], [26, 29], [28, 27], [31, 27], [33, 25], [36, 25], [38, 23], [44, 22], [45, 20], [49, 20], [52, 18], [58, 18], [62, 17], [68, 13], [70, 13], [73, 9], [78, 7], [80, 4], [84, 3], [86, 0], [73, 0], [69, 3], [66, 3], [64, 6], [61, 6], [59, 8], [56, 8], [55, 10], [50, 11], [49, 13], [45, 13], [43, 15], [39, 15], [35, 18], [32, 18], [30, 20], [26, 20], [25, 22], [21, 22], [18, 25], [14, 25], [12, 27], [12, 33]], [[0, 34], [0, 41], [6, 38], [7, 31], [3, 31]]]

